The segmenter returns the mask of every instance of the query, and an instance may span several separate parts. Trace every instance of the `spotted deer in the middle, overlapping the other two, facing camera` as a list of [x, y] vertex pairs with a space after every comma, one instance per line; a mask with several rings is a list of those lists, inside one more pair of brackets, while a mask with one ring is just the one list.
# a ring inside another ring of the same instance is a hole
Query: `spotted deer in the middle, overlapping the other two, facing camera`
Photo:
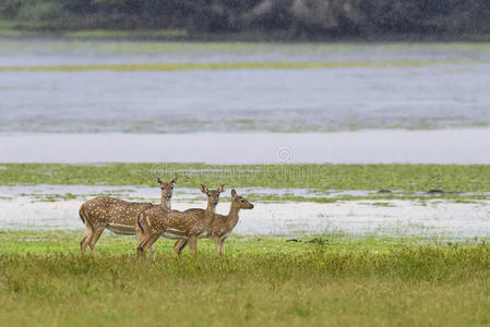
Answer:
[[[210, 190], [201, 185], [201, 191], [207, 195], [206, 209], [187, 209], [186, 211], [151, 206], [142, 210], [136, 219], [138, 256], [144, 256], [146, 250], [159, 239], [179, 239], [174, 249], [189, 243], [191, 252], [198, 253], [198, 239], [206, 238], [211, 223], [216, 216], [219, 194], [225, 192], [225, 185]], [[154, 258], [155, 259], [155, 258]]]

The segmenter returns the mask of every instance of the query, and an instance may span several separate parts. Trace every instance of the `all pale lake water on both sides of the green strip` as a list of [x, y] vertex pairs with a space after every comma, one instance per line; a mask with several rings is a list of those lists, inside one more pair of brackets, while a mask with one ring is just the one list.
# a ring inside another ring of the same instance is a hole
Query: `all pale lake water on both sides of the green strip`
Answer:
[[[285, 65], [115, 66], [240, 62]], [[297, 62], [331, 68], [288, 66]], [[94, 64], [109, 66], [96, 71]], [[65, 65], [83, 70], [67, 71]], [[489, 90], [488, 44], [0, 39], [0, 162], [488, 165]], [[157, 201], [148, 189], [4, 186], [0, 229], [82, 231], [77, 208], [99, 192]], [[192, 201], [195, 192], [177, 196], [175, 208], [204, 206]], [[243, 211], [236, 233], [488, 238], [488, 201], [258, 203]], [[219, 213], [227, 210], [228, 204], [219, 205]]]

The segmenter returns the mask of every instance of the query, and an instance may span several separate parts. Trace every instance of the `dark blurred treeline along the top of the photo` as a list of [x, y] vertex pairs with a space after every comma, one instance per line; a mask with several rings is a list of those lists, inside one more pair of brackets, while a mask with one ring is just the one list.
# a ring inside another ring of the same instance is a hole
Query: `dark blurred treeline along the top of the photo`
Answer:
[[1, 0], [2, 21], [50, 31], [182, 29], [291, 38], [490, 33], [490, 0]]

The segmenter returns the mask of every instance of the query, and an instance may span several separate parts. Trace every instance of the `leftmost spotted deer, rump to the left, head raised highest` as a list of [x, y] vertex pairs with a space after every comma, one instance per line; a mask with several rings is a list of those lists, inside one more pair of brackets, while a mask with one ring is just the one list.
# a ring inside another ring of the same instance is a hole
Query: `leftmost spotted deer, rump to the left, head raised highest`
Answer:
[[[168, 183], [157, 179], [162, 189], [160, 207], [170, 209], [170, 198], [174, 194], [174, 185], [177, 178]], [[151, 203], [133, 203], [113, 197], [96, 197], [82, 204], [79, 210], [80, 218], [87, 228], [85, 238], [80, 242], [82, 254], [88, 245], [95, 255], [95, 245], [106, 228], [122, 235], [134, 235], [134, 223], [138, 215], [145, 208], [152, 206]], [[155, 250], [152, 247], [152, 255]]]

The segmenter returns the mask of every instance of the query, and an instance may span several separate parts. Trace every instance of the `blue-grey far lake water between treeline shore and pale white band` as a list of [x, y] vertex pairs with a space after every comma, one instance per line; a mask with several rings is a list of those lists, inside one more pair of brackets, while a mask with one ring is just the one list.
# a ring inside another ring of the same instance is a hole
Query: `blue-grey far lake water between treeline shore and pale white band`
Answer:
[[309, 70], [0, 72], [0, 132], [311, 132], [490, 124], [490, 47], [485, 45], [0, 40], [0, 66], [399, 60], [457, 62]]

